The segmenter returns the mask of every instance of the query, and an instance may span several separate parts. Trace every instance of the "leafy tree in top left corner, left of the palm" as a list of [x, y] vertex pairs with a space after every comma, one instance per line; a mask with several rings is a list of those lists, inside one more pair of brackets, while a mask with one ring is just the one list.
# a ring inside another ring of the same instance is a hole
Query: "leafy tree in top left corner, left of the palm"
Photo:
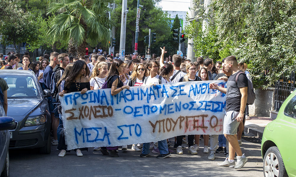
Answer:
[[38, 38], [41, 18], [24, 12], [19, 0], [0, 0], [0, 4], [0, 42], [15, 46], [21, 42], [33, 44]]

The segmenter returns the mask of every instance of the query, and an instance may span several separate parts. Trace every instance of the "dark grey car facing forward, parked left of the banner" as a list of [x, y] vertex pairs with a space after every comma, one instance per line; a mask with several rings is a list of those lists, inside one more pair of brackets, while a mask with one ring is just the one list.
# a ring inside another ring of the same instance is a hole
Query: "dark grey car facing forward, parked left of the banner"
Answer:
[[49, 154], [51, 116], [46, 97], [50, 91], [42, 91], [33, 71], [1, 70], [0, 77], [9, 87], [7, 116], [16, 123], [9, 130], [9, 148], [39, 148]]

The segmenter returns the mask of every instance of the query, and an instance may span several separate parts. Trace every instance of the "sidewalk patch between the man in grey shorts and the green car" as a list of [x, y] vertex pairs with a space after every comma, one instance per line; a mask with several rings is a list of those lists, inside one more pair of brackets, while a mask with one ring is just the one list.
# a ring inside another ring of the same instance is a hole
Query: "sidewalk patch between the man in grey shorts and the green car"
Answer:
[[273, 120], [269, 117], [250, 117], [244, 124], [244, 132], [262, 139], [264, 128]]

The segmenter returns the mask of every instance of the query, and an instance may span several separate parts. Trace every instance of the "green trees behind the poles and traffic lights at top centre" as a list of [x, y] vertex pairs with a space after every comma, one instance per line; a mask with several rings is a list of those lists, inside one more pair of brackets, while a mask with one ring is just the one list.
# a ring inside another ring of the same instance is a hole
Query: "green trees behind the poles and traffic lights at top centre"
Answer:
[[[138, 33], [138, 47], [145, 47], [147, 45], [144, 43], [144, 37], [149, 34], [149, 28], [151, 29], [151, 32], [156, 33], [156, 43], [152, 44], [151, 47], [170, 47], [170, 44], [167, 43], [168, 38], [170, 37], [170, 21], [168, 14], [156, 6], [157, 2], [159, 2], [159, 0], [140, 1], [141, 13], [139, 19], [140, 31]], [[116, 44], [119, 44], [122, 0], [115, 0], [115, 3], [117, 4], [117, 7], [115, 8], [111, 18], [115, 21], [114, 27]], [[129, 0], [127, 2], [127, 6], [129, 9], [126, 14], [126, 47], [134, 47], [136, 36], [137, 0]]]

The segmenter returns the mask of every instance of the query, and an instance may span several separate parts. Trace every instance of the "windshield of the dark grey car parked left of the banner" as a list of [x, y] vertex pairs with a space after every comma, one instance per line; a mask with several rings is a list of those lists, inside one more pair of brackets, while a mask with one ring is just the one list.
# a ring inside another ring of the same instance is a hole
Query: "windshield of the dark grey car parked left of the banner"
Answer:
[[31, 76], [1, 76], [8, 85], [7, 98], [41, 99], [38, 86]]

